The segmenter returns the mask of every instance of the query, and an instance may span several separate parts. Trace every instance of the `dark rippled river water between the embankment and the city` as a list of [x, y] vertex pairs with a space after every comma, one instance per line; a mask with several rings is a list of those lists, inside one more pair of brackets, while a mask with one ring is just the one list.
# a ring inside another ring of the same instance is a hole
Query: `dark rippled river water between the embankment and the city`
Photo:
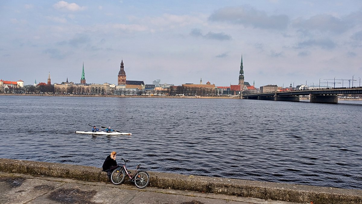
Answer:
[[[0, 96], [0, 158], [362, 189], [362, 102]], [[131, 136], [91, 136], [111, 126]]]

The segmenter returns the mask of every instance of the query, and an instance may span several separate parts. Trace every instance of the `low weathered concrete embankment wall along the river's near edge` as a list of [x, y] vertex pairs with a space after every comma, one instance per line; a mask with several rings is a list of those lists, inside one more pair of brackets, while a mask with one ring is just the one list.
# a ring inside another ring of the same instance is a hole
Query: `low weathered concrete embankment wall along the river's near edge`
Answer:
[[[109, 182], [97, 167], [0, 158], [0, 171]], [[362, 190], [201, 177], [148, 171], [151, 187], [314, 204], [362, 204]]]

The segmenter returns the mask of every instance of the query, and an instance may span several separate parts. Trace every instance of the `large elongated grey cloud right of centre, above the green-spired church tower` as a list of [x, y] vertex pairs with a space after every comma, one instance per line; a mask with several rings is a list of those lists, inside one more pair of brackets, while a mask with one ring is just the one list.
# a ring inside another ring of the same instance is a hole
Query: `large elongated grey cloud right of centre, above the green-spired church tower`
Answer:
[[286, 15], [268, 16], [264, 11], [256, 10], [247, 5], [219, 9], [211, 14], [209, 20], [276, 30], [286, 29], [289, 24], [289, 17]]

